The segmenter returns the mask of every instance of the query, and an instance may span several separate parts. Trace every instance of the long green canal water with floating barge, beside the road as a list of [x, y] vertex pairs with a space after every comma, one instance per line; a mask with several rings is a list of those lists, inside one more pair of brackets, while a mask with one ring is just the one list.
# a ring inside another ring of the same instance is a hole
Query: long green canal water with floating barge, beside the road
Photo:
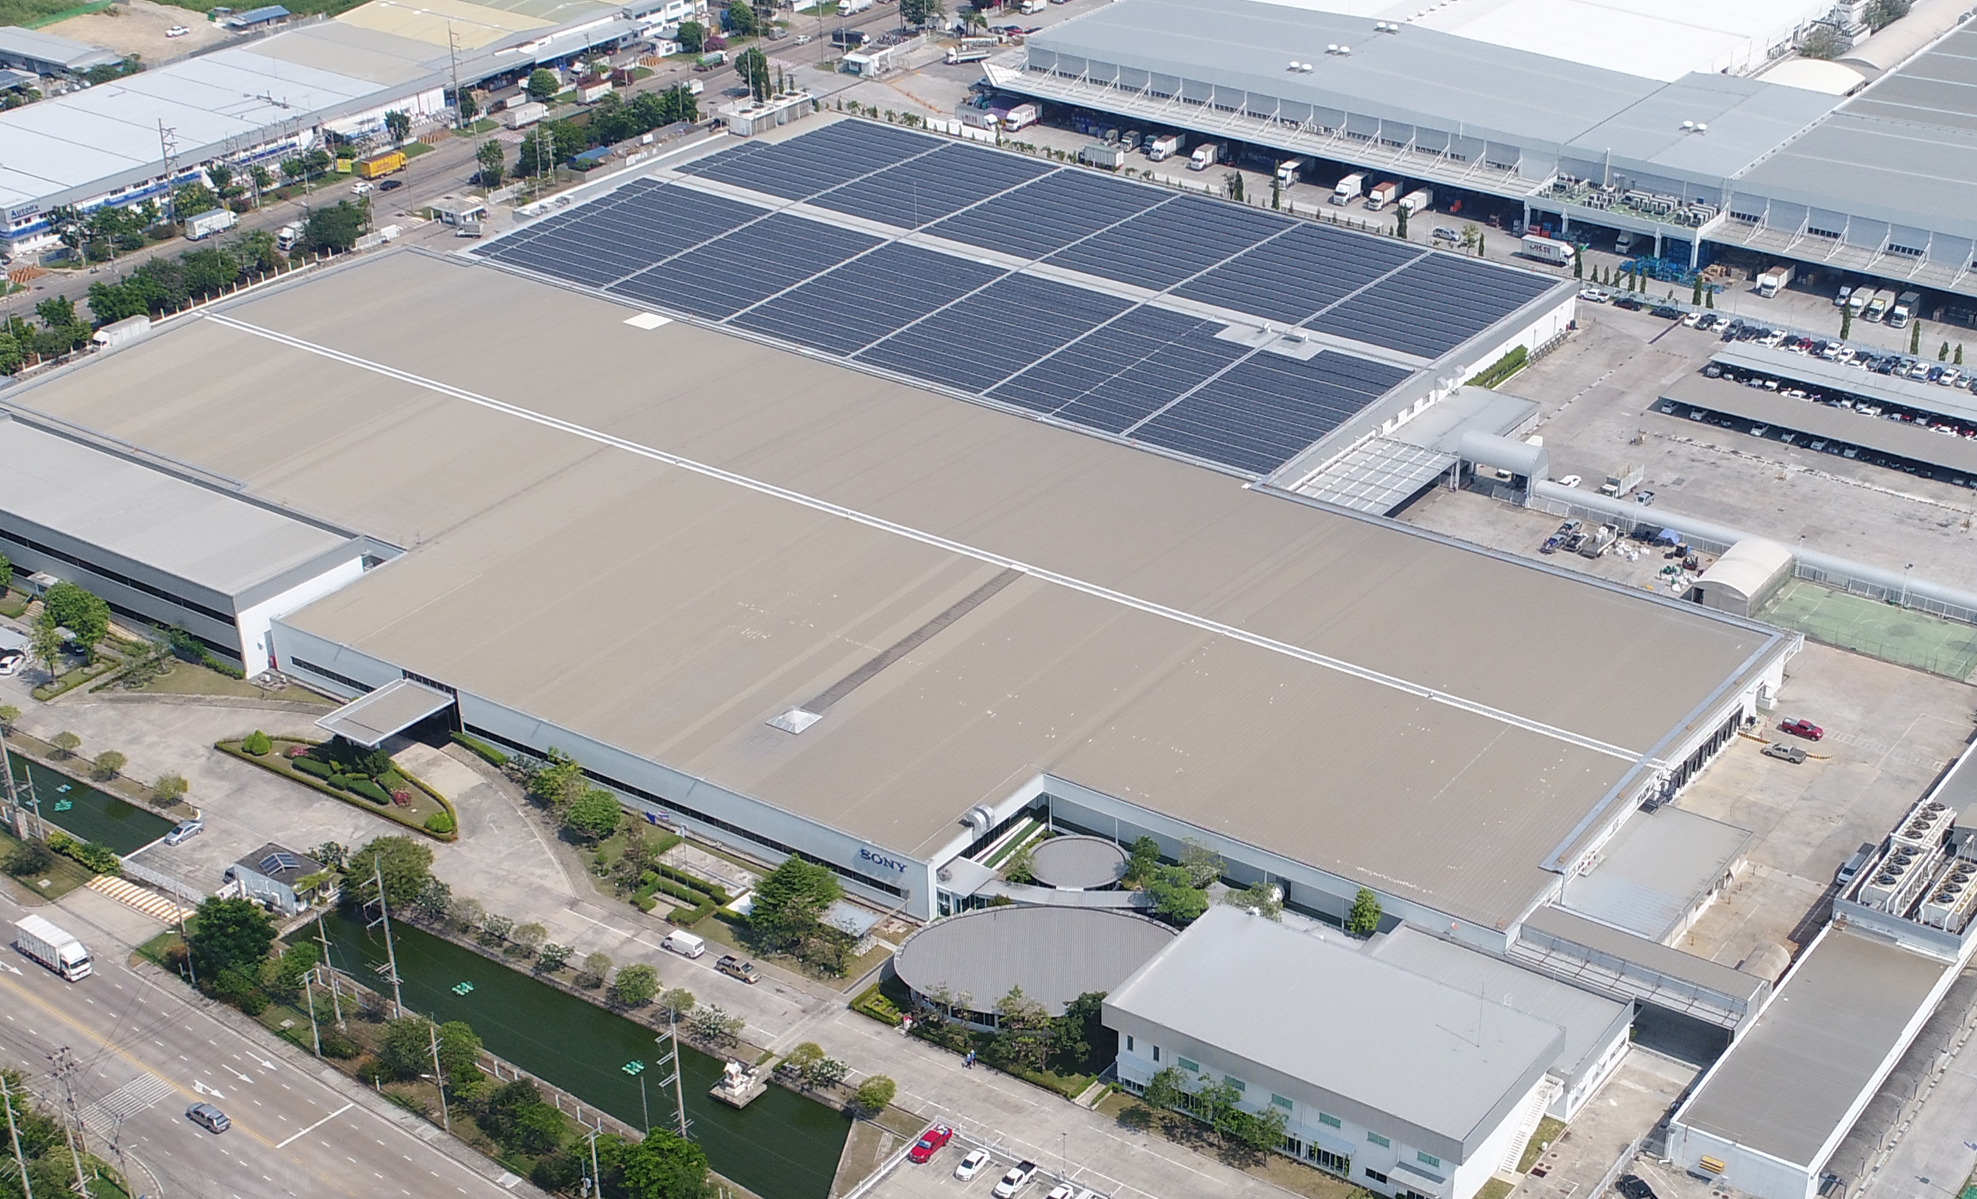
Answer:
[[[324, 924], [332, 964], [370, 982], [384, 962], [384, 936], [350, 915]], [[393, 922], [391, 940], [407, 1007], [439, 1021], [465, 1019], [490, 1053], [633, 1128], [645, 1126], [645, 1108], [639, 1077], [627, 1075], [625, 1065], [643, 1061], [652, 1126], [672, 1122], [672, 1088], [658, 1086], [652, 1065], [660, 1053], [652, 1029], [419, 928]], [[473, 992], [455, 994], [463, 982]], [[769, 1086], [737, 1112], [708, 1098], [724, 1063], [684, 1045], [680, 1059], [690, 1132], [716, 1171], [763, 1199], [830, 1193], [850, 1134], [848, 1116], [781, 1086]]]

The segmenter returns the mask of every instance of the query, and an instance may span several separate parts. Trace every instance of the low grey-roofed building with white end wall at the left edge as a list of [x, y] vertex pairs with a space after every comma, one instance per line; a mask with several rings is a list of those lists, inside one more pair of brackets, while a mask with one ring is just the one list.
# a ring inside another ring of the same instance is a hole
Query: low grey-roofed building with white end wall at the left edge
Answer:
[[178, 626], [253, 676], [269, 624], [364, 573], [362, 537], [158, 462], [0, 417], [0, 553], [134, 624]]

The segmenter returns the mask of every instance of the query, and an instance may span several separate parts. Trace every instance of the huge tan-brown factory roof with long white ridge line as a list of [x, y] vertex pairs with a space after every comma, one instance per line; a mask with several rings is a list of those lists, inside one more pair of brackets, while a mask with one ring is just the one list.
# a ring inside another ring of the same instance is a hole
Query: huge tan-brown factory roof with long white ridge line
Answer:
[[[469, 308], [534, 352], [449, 350]], [[627, 314], [389, 253], [10, 399], [415, 547], [299, 628], [907, 855], [1056, 774], [1503, 926], [1787, 646]], [[613, 636], [544, 642], [542, 571]]]

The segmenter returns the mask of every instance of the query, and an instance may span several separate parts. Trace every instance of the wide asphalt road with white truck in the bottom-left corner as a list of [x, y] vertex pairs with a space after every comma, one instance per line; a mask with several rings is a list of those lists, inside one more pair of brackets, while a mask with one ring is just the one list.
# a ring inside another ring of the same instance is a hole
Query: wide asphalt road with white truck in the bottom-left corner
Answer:
[[[500, 1187], [494, 1163], [463, 1165], [376, 1112], [356, 1082], [289, 1055], [273, 1037], [235, 1031], [176, 982], [138, 976], [117, 940], [77, 911], [87, 907], [77, 897], [63, 911], [40, 911], [101, 954], [97, 972], [67, 984], [8, 944], [0, 1061], [51, 1092], [47, 1055], [71, 1049], [89, 1148], [117, 1161], [115, 1138], [134, 1191], [150, 1199], [534, 1193], [526, 1183]], [[0, 928], [12, 932], [26, 911], [0, 899]], [[219, 1106], [233, 1128], [214, 1136], [192, 1124], [186, 1108], [200, 1100]]]

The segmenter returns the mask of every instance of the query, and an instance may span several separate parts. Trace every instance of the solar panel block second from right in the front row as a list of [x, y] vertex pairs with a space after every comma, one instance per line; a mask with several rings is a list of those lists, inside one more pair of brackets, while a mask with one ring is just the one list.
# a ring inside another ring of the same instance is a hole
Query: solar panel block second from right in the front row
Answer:
[[1125, 433], [1247, 350], [1216, 340], [1222, 324], [1135, 308], [1072, 342], [988, 395], [1060, 421]]

